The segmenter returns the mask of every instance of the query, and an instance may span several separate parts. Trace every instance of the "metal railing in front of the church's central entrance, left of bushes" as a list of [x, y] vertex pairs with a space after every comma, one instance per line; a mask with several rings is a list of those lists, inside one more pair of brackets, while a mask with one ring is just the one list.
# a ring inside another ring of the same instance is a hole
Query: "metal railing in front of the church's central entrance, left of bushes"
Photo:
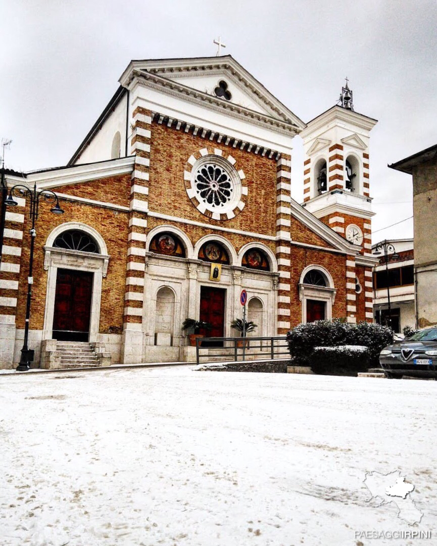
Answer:
[[196, 361], [201, 358], [228, 361], [290, 358], [286, 336], [197, 337]]

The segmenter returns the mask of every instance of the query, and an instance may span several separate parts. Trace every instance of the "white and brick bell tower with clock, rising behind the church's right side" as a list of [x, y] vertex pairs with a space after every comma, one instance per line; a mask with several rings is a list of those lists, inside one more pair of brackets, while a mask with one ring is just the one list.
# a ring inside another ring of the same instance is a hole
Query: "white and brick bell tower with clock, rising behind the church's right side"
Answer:
[[304, 141], [303, 206], [371, 254], [369, 138], [376, 120], [353, 110], [347, 78], [338, 104], [311, 120]]

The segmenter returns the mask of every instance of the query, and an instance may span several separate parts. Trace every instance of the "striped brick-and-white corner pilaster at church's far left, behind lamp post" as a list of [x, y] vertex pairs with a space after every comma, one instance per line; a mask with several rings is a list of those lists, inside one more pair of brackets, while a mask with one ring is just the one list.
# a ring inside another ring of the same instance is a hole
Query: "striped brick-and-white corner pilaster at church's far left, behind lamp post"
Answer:
[[[14, 197], [18, 205], [7, 208], [0, 263], [0, 367], [13, 367], [16, 308], [20, 281], [21, 249], [26, 200]], [[27, 287], [26, 287], [27, 288]]]

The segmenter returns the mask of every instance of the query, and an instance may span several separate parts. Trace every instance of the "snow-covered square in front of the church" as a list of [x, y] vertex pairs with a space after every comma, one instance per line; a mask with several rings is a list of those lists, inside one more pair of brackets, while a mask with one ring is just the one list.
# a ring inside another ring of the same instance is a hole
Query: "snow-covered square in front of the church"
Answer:
[[[0, 543], [436, 544], [437, 383], [196, 372], [0, 377]], [[409, 526], [367, 502], [400, 470]], [[365, 539], [355, 531], [432, 531]]]

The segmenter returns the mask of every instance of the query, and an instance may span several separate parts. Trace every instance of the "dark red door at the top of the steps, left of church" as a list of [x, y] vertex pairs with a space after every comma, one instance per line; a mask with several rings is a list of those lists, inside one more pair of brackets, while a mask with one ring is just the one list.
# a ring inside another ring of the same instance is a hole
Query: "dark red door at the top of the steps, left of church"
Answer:
[[88, 271], [57, 270], [53, 339], [88, 341], [92, 281]]

